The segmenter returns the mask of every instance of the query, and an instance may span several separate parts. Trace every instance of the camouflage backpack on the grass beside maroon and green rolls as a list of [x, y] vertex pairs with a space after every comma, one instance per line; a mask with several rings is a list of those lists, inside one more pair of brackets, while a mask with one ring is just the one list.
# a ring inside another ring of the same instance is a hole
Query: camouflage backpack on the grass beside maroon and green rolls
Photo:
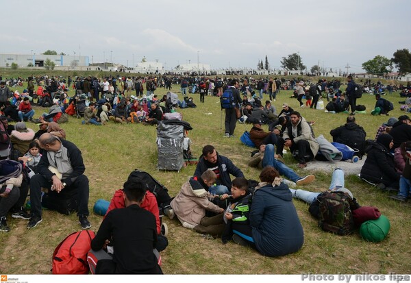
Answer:
[[319, 201], [319, 227], [338, 235], [348, 235], [354, 230], [351, 204], [353, 200], [344, 192], [324, 192], [317, 197]]

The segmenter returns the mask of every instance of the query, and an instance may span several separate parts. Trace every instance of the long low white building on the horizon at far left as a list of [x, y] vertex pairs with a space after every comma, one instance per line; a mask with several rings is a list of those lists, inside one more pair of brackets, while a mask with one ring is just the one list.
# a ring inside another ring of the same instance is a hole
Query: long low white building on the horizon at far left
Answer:
[[0, 54], [0, 66], [12, 66], [16, 63], [18, 67], [24, 68], [30, 65], [42, 67], [49, 59], [55, 66], [88, 66], [90, 60], [88, 56], [68, 56], [68, 55], [43, 55], [43, 54]]

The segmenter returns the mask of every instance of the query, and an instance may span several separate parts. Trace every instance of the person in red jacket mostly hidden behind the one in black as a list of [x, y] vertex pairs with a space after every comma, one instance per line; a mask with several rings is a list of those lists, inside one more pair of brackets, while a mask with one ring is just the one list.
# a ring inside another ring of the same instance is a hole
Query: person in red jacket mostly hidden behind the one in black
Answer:
[[[137, 178], [134, 178], [133, 180], [139, 181]], [[110, 201], [107, 212], [105, 212], [104, 218], [107, 217], [108, 212], [116, 208], [125, 208], [124, 189], [116, 190], [114, 192], [113, 198]], [[140, 208], [154, 214], [155, 224], [157, 225], [157, 242], [155, 243], [155, 249], [157, 249], [158, 251], [163, 251], [164, 249], [166, 249], [167, 245], [169, 245], [169, 241], [165, 236], [162, 236], [161, 234], [160, 211], [158, 210], [158, 204], [155, 196], [149, 190], [147, 190], [147, 192], [145, 193], [145, 197], [144, 199], [142, 199]]]

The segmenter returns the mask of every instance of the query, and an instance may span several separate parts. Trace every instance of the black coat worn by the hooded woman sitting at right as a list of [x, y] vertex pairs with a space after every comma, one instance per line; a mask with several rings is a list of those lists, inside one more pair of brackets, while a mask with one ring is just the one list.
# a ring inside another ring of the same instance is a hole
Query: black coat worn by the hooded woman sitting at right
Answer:
[[360, 177], [373, 183], [384, 183], [386, 186], [399, 182], [399, 173], [395, 170], [394, 157], [384, 145], [368, 141], [369, 147]]

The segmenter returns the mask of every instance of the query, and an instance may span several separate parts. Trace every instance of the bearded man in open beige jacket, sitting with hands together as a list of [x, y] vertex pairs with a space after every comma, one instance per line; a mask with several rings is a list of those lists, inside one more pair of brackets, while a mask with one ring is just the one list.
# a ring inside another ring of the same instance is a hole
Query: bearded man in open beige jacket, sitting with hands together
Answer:
[[314, 139], [314, 134], [306, 119], [299, 112], [290, 114], [291, 123], [283, 133], [284, 145], [290, 147], [299, 168], [307, 167], [307, 161], [312, 160], [319, 151], [319, 143]]

